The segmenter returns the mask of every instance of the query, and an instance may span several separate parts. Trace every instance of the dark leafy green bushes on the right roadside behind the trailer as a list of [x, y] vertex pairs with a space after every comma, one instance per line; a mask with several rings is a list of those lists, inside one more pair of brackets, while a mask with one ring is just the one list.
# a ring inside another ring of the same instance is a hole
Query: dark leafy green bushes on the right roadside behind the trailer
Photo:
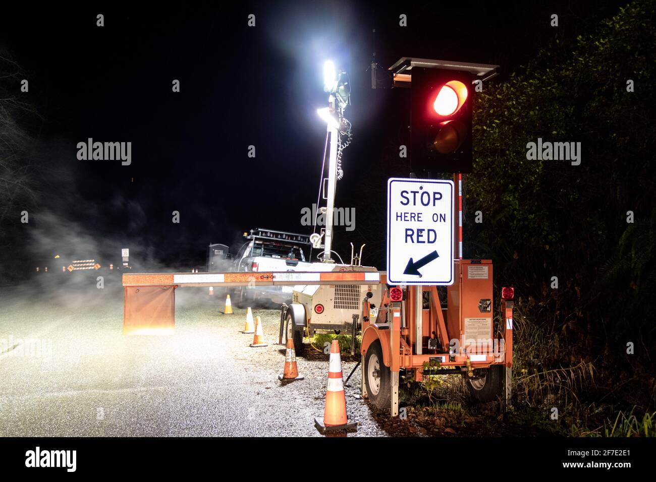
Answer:
[[[650, 390], [655, 6], [634, 1], [591, 35], [556, 41], [506, 81], [485, 85], [474, 107], [476, 175], [466, 183], [464, 236], [468, 257], [495, 260], [497, 285], [516, 287], [527, 326], [545, 343], [560, 340], [540, 364], [588, 361], [622, 381], [642, 375]], [[527, 160], [537, 138], [581, 142], [581, 164]], [[642, 395], [653, 403], [650, 390]]]

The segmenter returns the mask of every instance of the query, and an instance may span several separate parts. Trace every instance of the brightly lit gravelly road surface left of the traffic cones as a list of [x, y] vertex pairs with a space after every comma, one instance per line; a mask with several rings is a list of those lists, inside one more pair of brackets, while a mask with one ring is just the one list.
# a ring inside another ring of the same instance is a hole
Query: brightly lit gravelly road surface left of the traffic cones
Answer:
[[[250, 348], [244, 310], [222, 315], [218, 292], [178, 289], [175, 334], [123, 336], [123, 294], [109, 284], [0, 291], [0, 435], [321, 436], [327, 355], [298, 357], [305, 380], [281, 384], [279, 311], [255, 310], [269, 346]], [[344, 379], [354, 365], [342, 363]], [[359, 383], [358, 369], [349, 436], [386, 435], [356, 398]]]

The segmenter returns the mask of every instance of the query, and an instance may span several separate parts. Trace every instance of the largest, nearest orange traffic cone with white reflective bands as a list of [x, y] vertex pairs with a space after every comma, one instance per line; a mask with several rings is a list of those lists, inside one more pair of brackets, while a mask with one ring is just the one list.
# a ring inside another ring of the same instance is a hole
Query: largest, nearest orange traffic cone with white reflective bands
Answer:
[[346, 393], [342, 381], [342, 359], [339, 355], [339, 342], [333, 340], [330, 346], [330, 365], [328, 386], [323, 417], [314, 419], [314, 426], [320, 433], [337, 430], [357, 430], [358, 422], [351, 422], [346, 416]]

